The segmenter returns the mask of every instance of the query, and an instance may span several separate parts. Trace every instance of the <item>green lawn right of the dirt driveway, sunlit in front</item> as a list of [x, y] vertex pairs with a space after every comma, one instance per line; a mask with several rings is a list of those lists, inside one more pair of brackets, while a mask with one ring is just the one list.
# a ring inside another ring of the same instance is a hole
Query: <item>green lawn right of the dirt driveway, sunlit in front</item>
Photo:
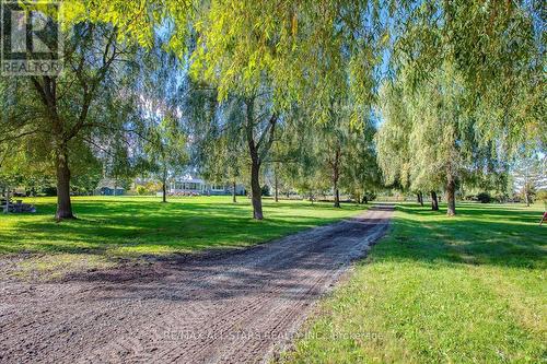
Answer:
[[291, 363], [546, 363], [543, 206], [398, 208], [392, 233], [284, 360]]

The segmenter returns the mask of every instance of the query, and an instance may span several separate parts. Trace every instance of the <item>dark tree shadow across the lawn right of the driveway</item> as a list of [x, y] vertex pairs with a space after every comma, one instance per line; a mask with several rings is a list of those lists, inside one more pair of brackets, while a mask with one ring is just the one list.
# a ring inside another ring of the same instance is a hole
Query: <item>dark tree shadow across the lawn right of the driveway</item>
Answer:
[[447, 218], [426, 208], [398, 210], [392, 234], [375, 250], [375, 261], [547, 268], [547, 231], [538, 226], [537, 211], [464, 204], [456, 218]]

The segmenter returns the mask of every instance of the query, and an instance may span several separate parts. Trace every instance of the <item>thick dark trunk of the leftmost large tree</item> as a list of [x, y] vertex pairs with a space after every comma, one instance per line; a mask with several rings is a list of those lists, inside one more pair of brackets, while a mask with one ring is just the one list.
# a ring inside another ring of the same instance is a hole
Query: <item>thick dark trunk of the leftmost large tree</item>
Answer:
[[68, 161], [68, 146], [62, 144], [55, 152], [55, 164], [57, 172], [57, 212], [55, 219], [74, 219], [72, 202], [70, 201], [70, 168]]

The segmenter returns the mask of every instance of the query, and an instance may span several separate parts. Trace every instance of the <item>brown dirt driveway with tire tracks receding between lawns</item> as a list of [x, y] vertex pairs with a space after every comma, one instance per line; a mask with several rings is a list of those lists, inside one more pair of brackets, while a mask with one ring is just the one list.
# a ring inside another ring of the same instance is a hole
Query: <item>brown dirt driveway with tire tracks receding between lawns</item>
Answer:
[[393, 210], [234, 253], [0, 282], [1, 363], [259, 363], [387, 230]]

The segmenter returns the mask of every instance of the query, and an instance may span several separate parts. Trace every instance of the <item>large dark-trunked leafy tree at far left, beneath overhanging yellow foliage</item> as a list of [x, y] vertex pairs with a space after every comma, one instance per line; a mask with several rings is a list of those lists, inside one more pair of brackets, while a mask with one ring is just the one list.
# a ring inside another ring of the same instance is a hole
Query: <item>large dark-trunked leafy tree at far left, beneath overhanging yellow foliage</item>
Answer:
[[[127, 120], [113, 117], [118, 102], [131, 102], [121, 82], [129, 49], [108, 25], [78, 23], [67, 32], [65, 71], [57, 77], [9, 79], [13, 92], [3, 128], [9, 140], [50, 151], [57, 177], [56, 219], [73, 219], [70, 199], [71, 157], [98, 145]], [[118, 89], [120, 87], [120, 89]]]

